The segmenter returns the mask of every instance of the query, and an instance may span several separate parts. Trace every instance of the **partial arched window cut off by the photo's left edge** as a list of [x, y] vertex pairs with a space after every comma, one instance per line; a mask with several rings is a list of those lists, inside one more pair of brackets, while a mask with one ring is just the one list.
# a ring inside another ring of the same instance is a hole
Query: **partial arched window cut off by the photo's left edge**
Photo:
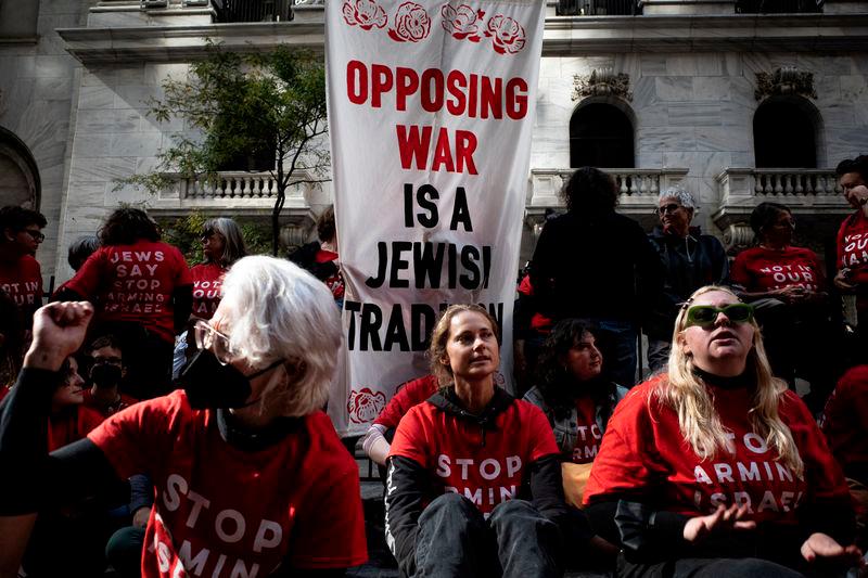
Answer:
[[0, 206], [39, 210], [39, 170], [27, 145], [0, 127]]

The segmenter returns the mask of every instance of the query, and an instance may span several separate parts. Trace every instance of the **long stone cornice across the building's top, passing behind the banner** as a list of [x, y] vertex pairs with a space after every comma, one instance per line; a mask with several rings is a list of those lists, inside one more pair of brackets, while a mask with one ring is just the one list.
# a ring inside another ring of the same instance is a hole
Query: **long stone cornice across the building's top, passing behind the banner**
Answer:
[[[59, 28], [85, 64], [187, 62], [207, 53], [206, 39], [238, 52], [288, 43], [321, 52], [319, 21]], [[868, 49], [868, 14], [559, 16], [546, 20], [544, 56], [617, 52], [787, 51]]]

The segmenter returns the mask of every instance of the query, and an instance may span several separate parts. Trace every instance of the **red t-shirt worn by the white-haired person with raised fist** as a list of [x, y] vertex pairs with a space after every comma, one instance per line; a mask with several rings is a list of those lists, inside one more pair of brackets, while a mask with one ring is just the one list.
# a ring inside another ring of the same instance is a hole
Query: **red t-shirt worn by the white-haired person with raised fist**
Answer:
[[324, 413], [301, 418], [298, 427], [244, 451], [222, 439], [216, 412], [191, 409], [177, 390], [91, 432], [119, 477], [143, 473], [154, 483], [142, 576], [268, 576], [284, 561], [309, 569], [363, 563], [358, 466]]

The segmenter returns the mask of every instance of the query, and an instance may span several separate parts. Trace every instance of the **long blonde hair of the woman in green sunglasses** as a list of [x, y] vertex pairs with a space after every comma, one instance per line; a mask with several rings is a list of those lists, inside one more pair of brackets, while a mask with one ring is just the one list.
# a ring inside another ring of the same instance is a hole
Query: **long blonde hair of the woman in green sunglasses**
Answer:
[[[730, 441], [727, 437], [728, 432], [714, 409], [709, 389], [693, 373], [695, 367], [693, 357], [686, 354], [680, 344], [684, 342], [682, 333], [687, 329], [689, 305], [700, 295], [711, 292], [727, 293], [738, 299], [738, 296], [728, 288], [715, 285], [706, 285], [693, 292], [675, 320], [668, 378], [662, 380], [655, 390], [660, 400], [677, 413], [681, 435], [693, 452], [703, 460], [714, 457], [722, 449], [726, 450]], [[802, 457], [799, 455], [799, 448], [790, 428], [781, 421], [778, 411], [781, 397], [787, 391], [787, 384], [771, 375], [760, 326], [755, 320], [751, 320], [751, 325], [754, 327], [753, 347], [748, 352], [745, 369], [745, 372], [753, 373], [756, 383], [753, 407], [749, 410], [751, 427], [754, 434], [765, 439], [769, 448], [778, 451], [781, 462], [802, 478], [804, 475]]]

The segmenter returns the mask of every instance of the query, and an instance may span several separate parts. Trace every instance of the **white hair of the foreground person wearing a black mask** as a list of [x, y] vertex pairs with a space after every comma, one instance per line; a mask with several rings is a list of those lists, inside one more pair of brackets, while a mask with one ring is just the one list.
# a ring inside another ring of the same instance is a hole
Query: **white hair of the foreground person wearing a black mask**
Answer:
[[285, 259], [244, 257], [226, 274], [222, 304], [233, 352], [256, 369], [275, 359], [297, 365], [298, 378], [269, 386], [263, 402], [288, 416], [322, 408], [341, 347], [341, 314], [326, 284]]

